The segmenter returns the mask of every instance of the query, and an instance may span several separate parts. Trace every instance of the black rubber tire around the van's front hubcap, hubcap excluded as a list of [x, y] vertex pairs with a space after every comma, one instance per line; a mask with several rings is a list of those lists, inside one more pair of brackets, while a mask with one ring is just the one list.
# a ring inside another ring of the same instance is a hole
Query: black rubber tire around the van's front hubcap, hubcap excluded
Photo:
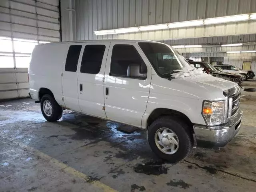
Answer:
[[[169, 128], [177, 135], [179, 148], [174, 154], [165, 154], [156, 146], [155, 134], [160, 128]], [[175, 163], [186, 158], [192, 148], [191, 133], [188, 125], [181, 120], [178, 120], [178, 118], [174, 120], [174, 118], [170, 116], [158, 118], [150, 125], [148, 130], [148, 142], [152, 151], [158, 157], [171, 163]]]

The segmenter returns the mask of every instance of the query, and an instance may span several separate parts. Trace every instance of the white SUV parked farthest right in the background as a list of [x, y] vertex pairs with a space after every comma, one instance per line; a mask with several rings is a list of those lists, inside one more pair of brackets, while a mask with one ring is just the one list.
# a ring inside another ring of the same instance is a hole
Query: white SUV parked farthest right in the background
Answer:
[[242, 70], [234, 65], [215, 65], [214, 67], [222, 68], [224, 72], [240, 74], [244, 77], [244, 81], [255, 77], [252, 70]]

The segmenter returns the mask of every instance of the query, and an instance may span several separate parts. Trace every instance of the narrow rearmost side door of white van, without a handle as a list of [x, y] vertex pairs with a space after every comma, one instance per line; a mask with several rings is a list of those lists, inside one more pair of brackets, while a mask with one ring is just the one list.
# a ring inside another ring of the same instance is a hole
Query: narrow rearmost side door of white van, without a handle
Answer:
[[78, 63], [83, 43], [69, 43], [62, 70], [62, 92], [66, 108], [80, 111], [78, 103]]

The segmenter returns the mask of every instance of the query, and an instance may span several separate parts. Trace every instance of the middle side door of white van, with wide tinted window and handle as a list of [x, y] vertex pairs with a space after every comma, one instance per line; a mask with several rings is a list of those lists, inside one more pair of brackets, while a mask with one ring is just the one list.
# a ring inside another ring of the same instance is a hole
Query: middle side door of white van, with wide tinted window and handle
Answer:
[[78, 99], [83, 113], [106, 118], [104, 73], [110, 42], [86, 42], [78, 70]]

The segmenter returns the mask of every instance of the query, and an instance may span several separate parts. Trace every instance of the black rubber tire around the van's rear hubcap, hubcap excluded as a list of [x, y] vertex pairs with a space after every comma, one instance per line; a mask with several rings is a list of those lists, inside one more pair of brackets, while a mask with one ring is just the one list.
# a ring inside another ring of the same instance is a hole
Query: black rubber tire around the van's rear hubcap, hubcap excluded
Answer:
[[[52, 105], [52, 114], [50, 116], [47, 116], [44, 113], [43, 104], [45, 100], [48, 100]], [[42, 99], [41, 99], [41, 111], [44, 118], [47, 121], [54, 122], [54, 121], [58, 121], [61, 118], [63, 110], [62, 110], [62, 107], [56, 102], [53, 96], [45, 94], [44, 96], [42, 96]]]

